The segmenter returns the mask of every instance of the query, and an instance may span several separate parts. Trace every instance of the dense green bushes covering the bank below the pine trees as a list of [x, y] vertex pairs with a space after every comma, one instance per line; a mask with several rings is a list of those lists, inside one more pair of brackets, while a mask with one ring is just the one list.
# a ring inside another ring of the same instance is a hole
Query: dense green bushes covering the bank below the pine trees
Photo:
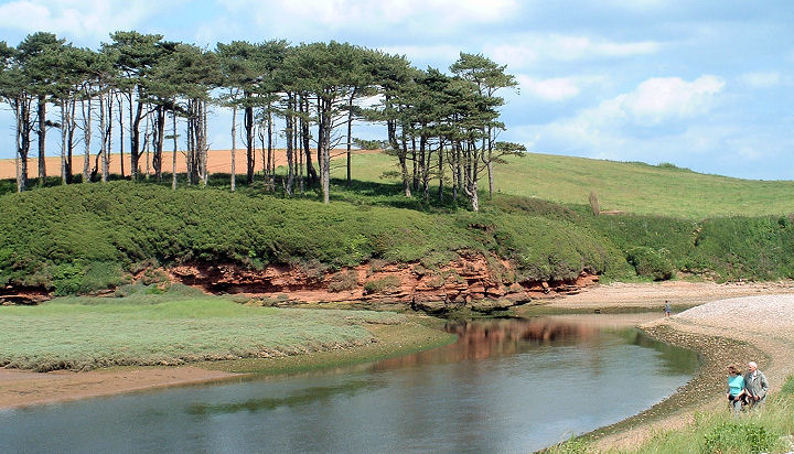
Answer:
[[463, 251], [511, 259], [515, 280], [559, 281], [582, 270], [616, 279], [669, 279], [676, 270], [721, 279], [794, 275], [787, 217], [594, 217], [586, 206], [514, 196], [495, 197], [482, 213], [420, 210], [389, 206], [384, 196], [366, 205], [361, 197], [322, 205], [130, 182], [7, 194], [0, 197], [0, 285], [88, 292], [119, 284], [139, 263], [189, 261], [290, 263], [321, 273], [369, 260], [432, 268]]

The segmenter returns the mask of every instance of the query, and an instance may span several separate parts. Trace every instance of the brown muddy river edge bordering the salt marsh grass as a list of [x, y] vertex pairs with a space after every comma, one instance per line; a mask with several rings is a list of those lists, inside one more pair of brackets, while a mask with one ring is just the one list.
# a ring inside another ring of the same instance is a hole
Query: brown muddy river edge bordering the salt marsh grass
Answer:
[[279, 377], [388, 359], [438, 348], [457, 340], [444, 321], [411, 316], [398, 325], [369, 325], [375, 342], [350, 348], [278, 358], [200, 361], [184, 366], [116, 366], [88, 371], [34, 372], [0, 368], [0, 411], [82, 399]]

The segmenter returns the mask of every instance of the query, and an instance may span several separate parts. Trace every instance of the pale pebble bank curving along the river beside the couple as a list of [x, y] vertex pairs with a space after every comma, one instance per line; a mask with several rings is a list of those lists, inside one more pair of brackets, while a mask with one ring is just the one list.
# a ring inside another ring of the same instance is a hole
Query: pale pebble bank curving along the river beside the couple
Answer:
[[744, 368], [755, 360], [772, 391], [794, 375], [794, 294], [717, 300], [642, 328], [668, 344], [698, 352], [704, 364], [697, 376], [665, 402], [593, 432], [597, 452], [637, 447], [656, 432], [691, 424], [696, 411], [727, 411], [728, 365]]

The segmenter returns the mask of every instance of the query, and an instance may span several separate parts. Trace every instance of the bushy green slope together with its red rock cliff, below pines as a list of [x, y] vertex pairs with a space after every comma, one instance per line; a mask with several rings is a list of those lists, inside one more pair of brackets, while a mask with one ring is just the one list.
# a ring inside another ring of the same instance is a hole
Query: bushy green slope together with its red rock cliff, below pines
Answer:
[[[794, 223], [786, 216], [592, 216], [589, 207], [505, 194], [470, 213], [406, 199], [394, 185], [332, 191], [331, 205], [261, 187], [173, 192], [131, 182], [7, 194], [0, 299], [90, 292], [130, 275], [157, 281], [159, 267], [178, 266], [195, 270], [182, 274], [189, 283], [212, 291], [280, 298], [321, 289], [337, 300], [409, 303], [421, 291], [425, 300], [460, 304], [508, 293], [526, 301], [526, 291], [584, 274], [794, 277]], [[299, 281], [290, 281], [293, 270]]]

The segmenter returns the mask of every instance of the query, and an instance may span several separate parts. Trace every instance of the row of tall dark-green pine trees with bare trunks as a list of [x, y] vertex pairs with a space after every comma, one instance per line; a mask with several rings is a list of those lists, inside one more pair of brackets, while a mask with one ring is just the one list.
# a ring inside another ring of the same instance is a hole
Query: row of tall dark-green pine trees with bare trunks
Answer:
[[[181, 148], [189, 184], [206, 184], [207, 114], [215, 105], [232, 110], [232, 153], [239, 136], [249, 184], [257, 141], [265, 180], [275, 182], [273, 143], [280, 136], [287, 155], [285, 191], [292, 194], [319, 184], [328, 203], [331, 150], [342, 138], [351, 180], [355, 119], [386, 126], [385, 140], [357, 143], [382, 148], [397, 159], [407, 196], [412, 190], [428, 198], [430, 182], [438, 181], [438, 197], [448, 183], [455, 197], [465, 196], [476, 210], [481, 177], [487, 175], [493, 190], [493, 164], [523, 150], [496, 141], [504, 129], [498, 121], [504, 100], [496, 91], [517, 84], [505, 66], [482, 55], [461, 53], [450, 72], [417, 69], [405, 56], [333, 41], [235, 41], [207, 51], [130, 31], [110, 34], [98, 51], [75, 47], [46, 32], [26, 36], [17, 47], [0, 42], [0, 99], [15, 119], [19, 192], [29, 185], [33, 142], [39, 181], [44, 181], [50, 130], [60, 131], [64, 184], [81, 165], [73, 160], [78, 148], [77, 154], [84, 155], [82, 181], [107, 181], [114, 144], [122, 155], [122, 176], [125, 152], [132, 180], [141, 177], [143, 153], [151, 153], [147, 165], [151, 162], [154, 176], [162, 180], [168, 170], [163, 150], [169, 147], [174, 151], [175, 187]], [[234, 163], [232, 159], [232, 191]]]

